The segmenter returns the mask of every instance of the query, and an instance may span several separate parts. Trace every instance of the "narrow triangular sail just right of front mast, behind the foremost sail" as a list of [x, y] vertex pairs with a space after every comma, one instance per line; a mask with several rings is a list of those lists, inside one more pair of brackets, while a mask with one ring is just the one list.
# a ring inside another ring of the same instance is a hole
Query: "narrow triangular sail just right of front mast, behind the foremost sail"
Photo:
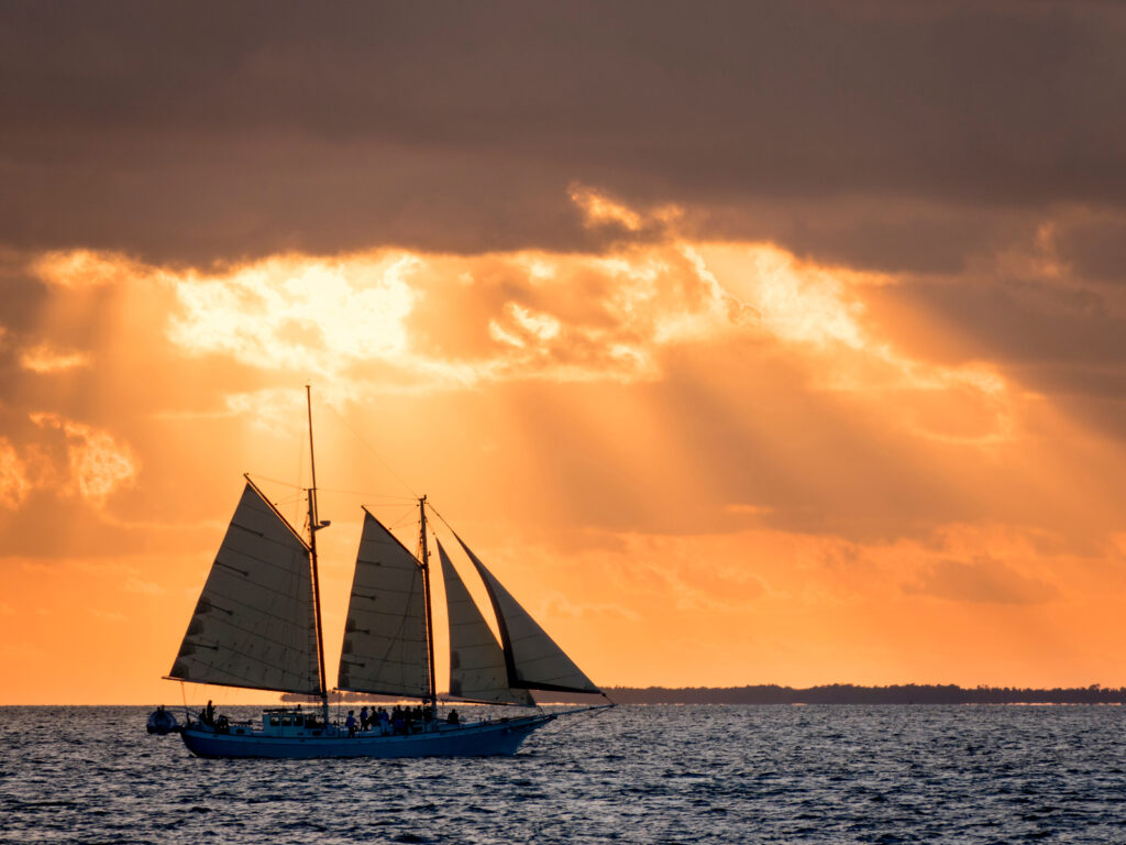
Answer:
[[534, 706], [527, 690], [508, 685], [504, 652], [438, 541], [449, 613], [449, 694], [470, 701]]

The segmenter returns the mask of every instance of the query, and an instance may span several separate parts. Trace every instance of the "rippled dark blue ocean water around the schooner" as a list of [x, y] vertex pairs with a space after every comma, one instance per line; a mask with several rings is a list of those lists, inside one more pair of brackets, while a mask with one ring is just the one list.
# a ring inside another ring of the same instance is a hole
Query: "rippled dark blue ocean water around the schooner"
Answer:
[[197, 759], [150, 710], [0, 708], [0, 840], [1126, 843], [1121, 708], [619, 706], [414, 760]]

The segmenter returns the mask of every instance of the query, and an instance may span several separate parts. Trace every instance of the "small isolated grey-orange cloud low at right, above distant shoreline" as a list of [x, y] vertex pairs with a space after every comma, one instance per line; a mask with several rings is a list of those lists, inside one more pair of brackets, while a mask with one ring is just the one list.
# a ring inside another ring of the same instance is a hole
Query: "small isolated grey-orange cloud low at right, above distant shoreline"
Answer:
[[904, 585], [903, 592], [951, 602], [1010, 605], [1043, 604], [1060, 597], [1054, 585], [989, 558], [937, 562], [917, 582]]

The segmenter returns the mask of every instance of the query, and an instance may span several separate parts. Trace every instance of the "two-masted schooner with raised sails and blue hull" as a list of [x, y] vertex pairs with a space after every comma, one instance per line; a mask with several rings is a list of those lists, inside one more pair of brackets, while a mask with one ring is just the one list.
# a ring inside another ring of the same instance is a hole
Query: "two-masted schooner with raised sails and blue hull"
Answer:
[[[404, 546], [369, 510], [349, 596], [337, 690], [417, 700], [400, 718], [345, 724], [329, 714], [316, 534], [329, 526], [316, 504], [312, 399], [309, 533], [289, 524], [249, 475], [196, 603], [170, 681], [295, 693], [319, 708], [271, 708], [260, 722], [216, 715], [208, 702], [180, 730], [200, 757], [423, 757], [511, 755], [534, 731], [564, 713], [614, 706], [485, 568], [457, 544], [484, 584], [500, 642], [437, 541], [449, 626], [449, 699], [534, 708], [529, 691], [590, 693], [606, 703], [501, 719], [441, 718], [435, 685], [429, 506], [418, 500], [419, 551]], [[382, 708], [381, 708], [382, 711]]]

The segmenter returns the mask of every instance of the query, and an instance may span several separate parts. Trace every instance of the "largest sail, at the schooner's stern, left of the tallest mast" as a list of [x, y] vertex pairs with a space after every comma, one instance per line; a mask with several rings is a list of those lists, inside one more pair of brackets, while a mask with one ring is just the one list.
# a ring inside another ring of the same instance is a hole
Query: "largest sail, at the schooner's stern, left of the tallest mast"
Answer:
[[169, 677], [319, 694], [310, 551], [248, 483]]

